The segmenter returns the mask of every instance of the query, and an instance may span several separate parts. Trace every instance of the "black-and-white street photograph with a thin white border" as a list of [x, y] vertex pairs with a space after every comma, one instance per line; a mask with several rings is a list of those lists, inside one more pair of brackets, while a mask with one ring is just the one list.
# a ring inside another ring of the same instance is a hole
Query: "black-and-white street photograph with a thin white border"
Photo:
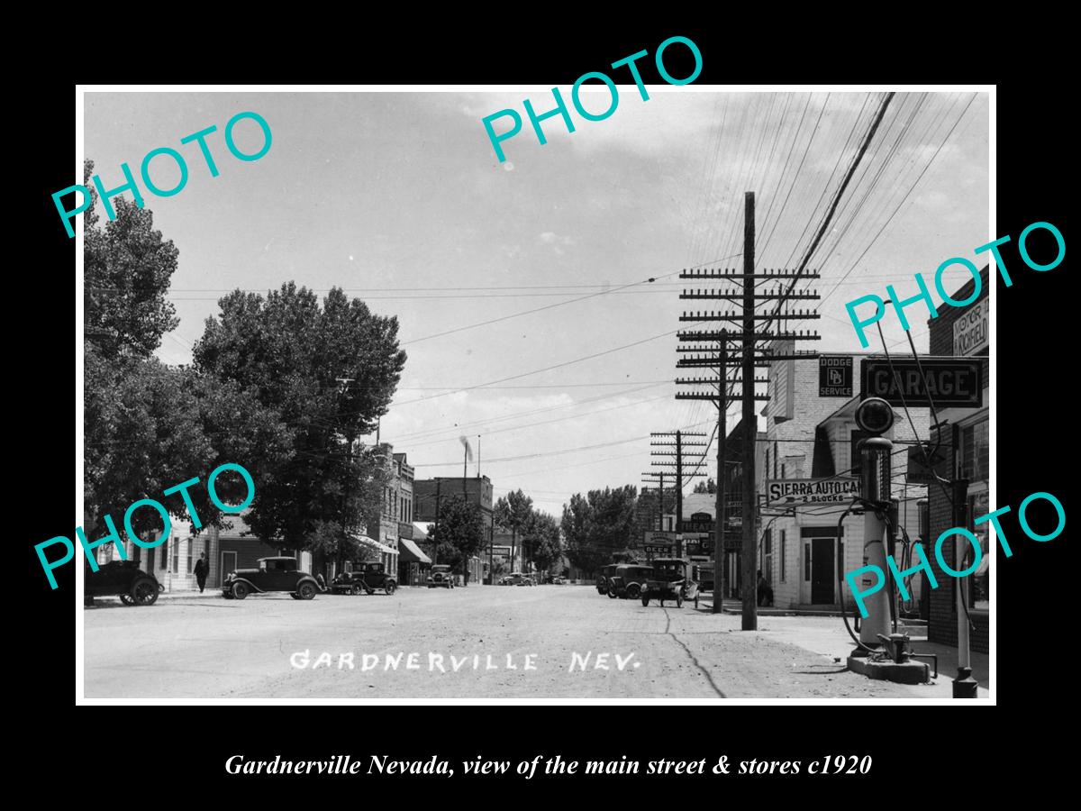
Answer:
[[80, 701], [992, 697], [993, 88], [692, 45], [83, 89]]

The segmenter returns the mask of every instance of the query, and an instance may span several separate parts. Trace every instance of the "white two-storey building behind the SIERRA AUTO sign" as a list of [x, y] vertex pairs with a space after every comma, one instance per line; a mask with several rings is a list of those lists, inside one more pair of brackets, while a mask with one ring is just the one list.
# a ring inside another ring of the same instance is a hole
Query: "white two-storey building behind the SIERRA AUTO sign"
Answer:
[[[778, 354], [791, 344], [776, 345]], [[864, 564], [864, 517], [838, 520], [852, 501], [844, 491], [859, 476], [858, 443], [864, 434], [855, 423], [860, 401], [859, 363], [866, 355], [845, 354], [852, 363], [851, 397], [819, 396], [819, 363], [784, 360], [770, 370], [770, 402], [765, 441], [756, 458], [762, 524], [758, 569], [773, 588], [774, 606], [790, 609], [838, 609], [853, 607], [849, 584], [842, 576], [838, 589], [838, 560], [843, 572]], [[917, 434], [926, 437], [925, 410], [912, 410]], [[892, 495], [899, 502], [898, 519], [915, 541], [919, 535], [919, 500], [925, 487], [907, 482], [907, 449], [916, 441], [904, 414], [897, 414], [885, 435], [895, 443], [892, 458]], [[769, 481], [830, 480], [836, 502], [802, 504], [786, 498], [770, 501]], [[919, 595], [919, 584], [912, 590]]]

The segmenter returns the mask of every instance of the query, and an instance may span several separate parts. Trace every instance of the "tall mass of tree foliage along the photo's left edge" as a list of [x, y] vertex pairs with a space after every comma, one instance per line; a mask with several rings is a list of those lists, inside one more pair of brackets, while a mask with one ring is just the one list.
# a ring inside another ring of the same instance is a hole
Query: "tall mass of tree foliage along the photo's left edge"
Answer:
[[[91, 189], [92, 172], [88, 161]], [[192, 478], [201, 483], [187, 492], [202, 527], [221, 526], [228, 517], [210, 502], [206, 476], [233, 462], [258, 481], [268, 462], [285, 454], [289, 428], [250, 390], [212, 384], [154, 356], [177, 324], [166, 296], [179, 252], [154, 228], [149, 209], [123, 198], [112, 204], [116, 217], [104, 225], [93, 208], [83, 215], [83, 530], [89, 539], [104, 535], [109, 515], [123, 532], [128, 506], [142, 498], [186, 518], [183, 496], [163, 491]], [[232, 473], [223, 474], [215, 490], [226, 503], [248, 494]], [[135, 510], [131, 521], [143, 537], [162, 529], [149, 508]]]

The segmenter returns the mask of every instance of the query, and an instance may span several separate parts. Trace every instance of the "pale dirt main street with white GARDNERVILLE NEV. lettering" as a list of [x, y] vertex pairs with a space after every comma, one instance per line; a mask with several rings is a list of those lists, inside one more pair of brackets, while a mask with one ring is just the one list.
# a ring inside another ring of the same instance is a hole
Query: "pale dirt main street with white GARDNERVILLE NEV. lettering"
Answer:
[[98, 602], [83, 612], [88, 699], [943, 697], [742, 633], [738, 616], [586, 586]]

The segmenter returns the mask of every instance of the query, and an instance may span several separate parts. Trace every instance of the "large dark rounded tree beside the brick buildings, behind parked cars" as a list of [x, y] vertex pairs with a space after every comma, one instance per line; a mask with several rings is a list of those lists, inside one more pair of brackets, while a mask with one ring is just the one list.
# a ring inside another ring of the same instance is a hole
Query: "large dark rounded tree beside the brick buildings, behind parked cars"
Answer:
[[320, 306], [292, 282], [265, 298], [237, 290], [218, 304], [195, 346], [197, 368], [254, 393], [292, 430], [290, 454], [261, 481], [252, 531], [292, 549], [317, 540], [317, 521], [357, 532], [382, 493], [385, 460], [357, 439], [386, 413], [405, 364], [397, 319], [339, 288]]

